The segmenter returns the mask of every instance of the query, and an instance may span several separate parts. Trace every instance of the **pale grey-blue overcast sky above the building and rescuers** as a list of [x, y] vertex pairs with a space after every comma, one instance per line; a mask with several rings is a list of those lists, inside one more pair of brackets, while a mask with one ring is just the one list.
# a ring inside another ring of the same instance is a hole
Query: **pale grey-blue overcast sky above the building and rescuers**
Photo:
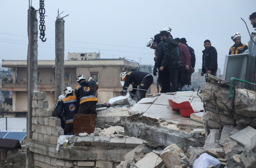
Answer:
[[[0, 60], [27, 59], [27, 9], [29, 0], [0, 0]], [[39, 9], [39, 0], [32, 0]], [[174, 38], [186, 38], [195, 50], [195, 71], [202, 67], [203, 41], [209, 39], [218, 53], [223, 73], [225, 55], [234, 44], [231, 35], [239, 32], [247, 45], [255, 32], [249, 15], [256, 0], [45, 0], [45, 37], [38, 35], [38, 60], [55, 60], [55, 21], [65, 17], [65, 59], [67, 53], [101, 53], [101, 58], [123, 58], [154, 65], [154, 50], [146, 47], [149, 38], [171, 27]], [[38, 24], [39, 14], [38, 14]], [[40, 33], [40, 31], [39, 31]]]

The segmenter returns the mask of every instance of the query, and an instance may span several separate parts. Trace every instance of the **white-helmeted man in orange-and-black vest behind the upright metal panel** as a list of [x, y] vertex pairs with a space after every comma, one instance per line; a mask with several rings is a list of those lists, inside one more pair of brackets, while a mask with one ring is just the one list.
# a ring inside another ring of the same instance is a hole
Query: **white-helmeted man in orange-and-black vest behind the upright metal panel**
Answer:
[[236, 32], [231, 36], [231, 39], [235, 42], [229, 49], [229, 55], [242, 54], [248, 49], [248, 46], [241, 43], [241, 34]]

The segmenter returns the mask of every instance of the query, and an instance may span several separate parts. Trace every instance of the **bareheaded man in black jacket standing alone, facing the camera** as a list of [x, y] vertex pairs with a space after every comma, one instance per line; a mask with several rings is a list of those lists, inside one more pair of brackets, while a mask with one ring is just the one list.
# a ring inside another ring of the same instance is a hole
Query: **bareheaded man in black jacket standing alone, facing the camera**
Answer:
[[[210, 40], [205, 40], [204, 45], [205, 50], [203, 50], [203, 57], [202, 57], [202, 72], [201, 76], [203, 74], [208, 73], [216, 76], [216, 71], [218, 69], [218, 63], [217, 63], [217, 50], [211, 46]], [[207, 82], [207, 78], [205, 75], [205, 80]]]

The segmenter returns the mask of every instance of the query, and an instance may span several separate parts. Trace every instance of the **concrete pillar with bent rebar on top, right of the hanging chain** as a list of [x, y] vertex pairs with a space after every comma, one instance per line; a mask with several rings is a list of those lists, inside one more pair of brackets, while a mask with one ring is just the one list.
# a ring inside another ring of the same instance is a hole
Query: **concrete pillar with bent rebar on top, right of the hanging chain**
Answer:
[[62, 18], [55, 21], [55, 100], [64, 93], [64, 23]]

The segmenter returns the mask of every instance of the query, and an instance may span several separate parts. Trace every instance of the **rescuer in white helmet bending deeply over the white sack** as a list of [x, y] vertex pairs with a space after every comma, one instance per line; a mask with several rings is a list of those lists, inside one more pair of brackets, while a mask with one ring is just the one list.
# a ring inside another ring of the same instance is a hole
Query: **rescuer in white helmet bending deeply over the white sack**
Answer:
[[[133, 98], [138, 90], [138, 101], [145, 97], [147, 89], [153, 83], [153, 76], [146, 72], [134, 71], [134, 72], [125, 72], [123, 71], [120, 74], [121, 81], [124, 81], [122, 95], [125, 95], [129, 85], [133, 85], [133, 90], [131, 91], [131, 97]], [[138, 86], [138, 88], [137, 88]]]

